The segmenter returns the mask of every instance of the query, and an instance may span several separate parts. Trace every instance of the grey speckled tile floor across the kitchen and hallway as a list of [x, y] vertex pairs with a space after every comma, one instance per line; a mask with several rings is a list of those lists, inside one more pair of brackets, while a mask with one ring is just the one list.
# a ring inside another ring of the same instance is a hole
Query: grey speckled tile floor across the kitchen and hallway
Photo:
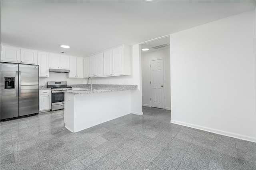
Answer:
[[143, 107], [71, 133], [64, 112], [0, 123], [4, 169], [256, 169], [256, 144], [170, 123], [170, 111]]

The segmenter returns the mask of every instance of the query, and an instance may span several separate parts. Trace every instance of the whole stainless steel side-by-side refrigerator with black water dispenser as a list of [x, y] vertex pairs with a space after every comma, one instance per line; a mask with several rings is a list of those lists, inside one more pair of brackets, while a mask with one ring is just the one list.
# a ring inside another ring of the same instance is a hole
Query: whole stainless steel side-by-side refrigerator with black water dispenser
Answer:
[[1, 120], [39, 112], [38, 65], [1, 63]]

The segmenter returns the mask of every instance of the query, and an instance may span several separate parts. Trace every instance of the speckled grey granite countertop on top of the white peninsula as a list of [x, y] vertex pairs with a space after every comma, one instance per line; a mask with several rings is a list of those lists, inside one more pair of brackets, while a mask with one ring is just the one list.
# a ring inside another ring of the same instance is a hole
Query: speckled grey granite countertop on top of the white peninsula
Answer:
[[[79, 87], [76, 86], [76, 88], [79, 88]], [[82, 88], [86, 88], [86, 87], [82, 87]], [[92, 92], [90, 90], [77, 89], [76, 91], [68, 90], [65, 93], [71, 93], [74, 95], [83, 95], [83, 94], [103, 93], [103, 92], [110, 92], [110, 91], [136, 90], [138, 88], [138, 85], [92, 85], [92, 88], [93, 88]]]

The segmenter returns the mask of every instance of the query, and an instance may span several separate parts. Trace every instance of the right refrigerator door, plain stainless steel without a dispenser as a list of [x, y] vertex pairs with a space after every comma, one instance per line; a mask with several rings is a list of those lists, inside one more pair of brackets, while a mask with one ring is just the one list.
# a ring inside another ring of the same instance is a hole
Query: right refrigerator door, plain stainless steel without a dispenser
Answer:
[[19, 64], [19, 116], [39, 112], [38, 65]]

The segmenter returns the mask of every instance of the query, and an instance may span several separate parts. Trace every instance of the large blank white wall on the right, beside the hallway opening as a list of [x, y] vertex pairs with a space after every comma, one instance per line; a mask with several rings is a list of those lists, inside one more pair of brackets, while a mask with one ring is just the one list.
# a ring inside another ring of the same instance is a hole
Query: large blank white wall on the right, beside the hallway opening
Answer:
[[256, 141], [255, 10], [170, 35], [172, 123]]

